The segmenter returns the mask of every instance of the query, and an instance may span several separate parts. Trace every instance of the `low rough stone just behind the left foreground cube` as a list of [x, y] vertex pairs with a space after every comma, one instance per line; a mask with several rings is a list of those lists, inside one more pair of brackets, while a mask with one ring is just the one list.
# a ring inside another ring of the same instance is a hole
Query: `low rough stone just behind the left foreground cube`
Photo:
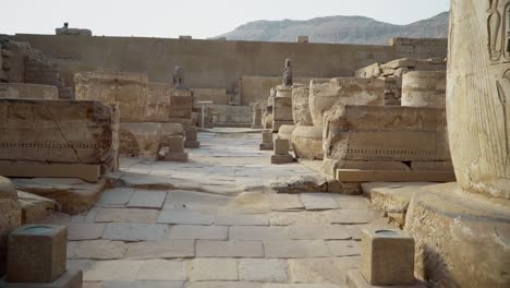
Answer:
[[54, 212], [57, 205], [53, 200], [23, 191], [17, 191], [17, 199], [23, 212], [23, 224], [44, 220]]

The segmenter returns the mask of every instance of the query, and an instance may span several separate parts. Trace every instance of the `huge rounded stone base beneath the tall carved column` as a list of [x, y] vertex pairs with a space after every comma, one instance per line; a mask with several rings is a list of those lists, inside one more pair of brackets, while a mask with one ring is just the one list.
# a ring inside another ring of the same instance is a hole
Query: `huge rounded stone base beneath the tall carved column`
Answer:
[[442, 287], [509, 287], [510, 203], [460, 188], [428, 185], [411, 201], [416, 274]]

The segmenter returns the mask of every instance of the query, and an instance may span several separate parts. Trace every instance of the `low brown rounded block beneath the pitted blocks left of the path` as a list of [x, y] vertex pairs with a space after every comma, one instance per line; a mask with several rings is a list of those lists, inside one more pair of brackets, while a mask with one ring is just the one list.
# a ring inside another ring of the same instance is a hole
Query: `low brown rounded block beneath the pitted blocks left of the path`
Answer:
[[160, 123], [121, 123], [119, 154], [127, 157], [156, 157], [161, 140]]

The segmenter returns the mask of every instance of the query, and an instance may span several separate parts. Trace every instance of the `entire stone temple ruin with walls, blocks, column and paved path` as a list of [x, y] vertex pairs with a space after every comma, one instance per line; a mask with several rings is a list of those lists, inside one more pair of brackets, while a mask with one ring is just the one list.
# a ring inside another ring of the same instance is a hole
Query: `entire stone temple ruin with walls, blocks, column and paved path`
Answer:
[[0, 35], [0, 287], [510, 287], [509, 20]]

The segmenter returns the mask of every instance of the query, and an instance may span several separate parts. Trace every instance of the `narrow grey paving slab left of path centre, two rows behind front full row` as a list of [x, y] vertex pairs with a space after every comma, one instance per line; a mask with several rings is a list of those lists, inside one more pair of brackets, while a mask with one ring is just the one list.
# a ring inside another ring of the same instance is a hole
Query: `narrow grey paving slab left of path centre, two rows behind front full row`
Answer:
[[226, 226], [174, 225], [170, 227], [169, 239], [227, 240]]

